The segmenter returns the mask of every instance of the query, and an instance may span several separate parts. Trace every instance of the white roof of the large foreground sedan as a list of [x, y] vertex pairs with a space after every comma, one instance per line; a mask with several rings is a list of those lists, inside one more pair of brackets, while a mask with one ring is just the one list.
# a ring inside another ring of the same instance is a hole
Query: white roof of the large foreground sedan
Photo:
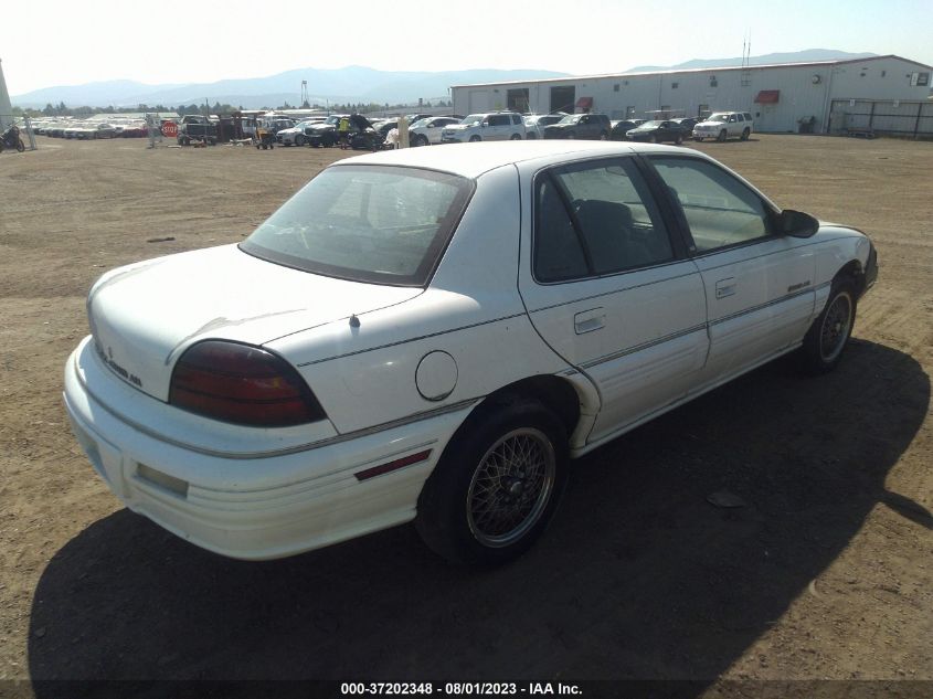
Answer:
[[[550, 162], [596, 156], [626, 156], [633, 152], [677, 152], [683, 148], [648, 144], [586, 140], [509, 140], [478, 144], [449, 144], [432, 148], [401, 148], [347, 158], [331, 167], [344, 165], [383, 165], [425, 168], [477, 178], [502, 166], [530, 160]], [[702, 157], [699, 151], [687, 151]]]

